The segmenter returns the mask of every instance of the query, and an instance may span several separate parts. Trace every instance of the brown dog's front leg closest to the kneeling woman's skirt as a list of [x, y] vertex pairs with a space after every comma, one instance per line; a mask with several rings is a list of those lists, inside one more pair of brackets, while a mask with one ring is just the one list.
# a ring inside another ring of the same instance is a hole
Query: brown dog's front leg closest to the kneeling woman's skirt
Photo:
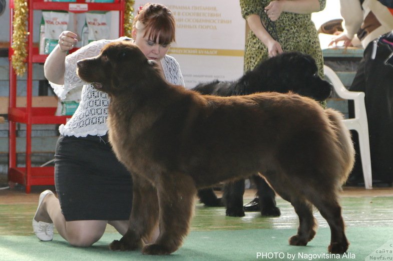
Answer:
[[133, 201], [127, 233], [120, 241], [113, 241], [111, 250], [136, 250], [149, 241], [158, 223], [157, 190], [146, 179], [133, 175]]

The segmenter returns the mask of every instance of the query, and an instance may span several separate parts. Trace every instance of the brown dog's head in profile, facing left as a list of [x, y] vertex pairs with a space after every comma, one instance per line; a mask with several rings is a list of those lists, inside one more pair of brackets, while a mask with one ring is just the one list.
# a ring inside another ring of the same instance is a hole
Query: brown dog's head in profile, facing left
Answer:
[[130, 86], [139, 86], [146, 75], [158, 73], [156, 64], [127, 40], [108, 43], [98, 56], [80, 60], [77, 66], [82, 80], [108, 94], [121, 94]]

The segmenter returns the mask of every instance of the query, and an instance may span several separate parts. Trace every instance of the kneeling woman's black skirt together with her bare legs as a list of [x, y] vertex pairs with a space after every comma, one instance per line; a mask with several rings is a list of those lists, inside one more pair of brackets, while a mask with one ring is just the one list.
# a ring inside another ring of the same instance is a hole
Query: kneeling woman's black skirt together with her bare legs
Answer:
[[61, 136], [55, 154], [55, 185], [58, 198], [47, 195], [35, 219], [53, 222], [70, 244], [92, 245], [107, 224], [122, 235], [127, 232], [131, 175], [117, 160], [106, 136]]

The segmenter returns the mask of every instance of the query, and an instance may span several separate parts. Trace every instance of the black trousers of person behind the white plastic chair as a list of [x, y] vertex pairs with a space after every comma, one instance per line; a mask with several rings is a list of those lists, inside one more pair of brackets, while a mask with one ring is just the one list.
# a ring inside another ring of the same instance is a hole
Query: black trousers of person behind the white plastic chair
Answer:
[[[364, 50], [351, 91], [365, 93], [368, 132], [370, 140], [373, 183], [393, 181], [393, 66], [385, 60], [392, 50], [378, 42], [372, 59], [373, 42]], [[353, 102], [349, 103], [349, 117], [353, 117]], [[357, 133], [352, 132], [356, 148], [355, 167], [350, 180], [362, 180], [362, 169]]]

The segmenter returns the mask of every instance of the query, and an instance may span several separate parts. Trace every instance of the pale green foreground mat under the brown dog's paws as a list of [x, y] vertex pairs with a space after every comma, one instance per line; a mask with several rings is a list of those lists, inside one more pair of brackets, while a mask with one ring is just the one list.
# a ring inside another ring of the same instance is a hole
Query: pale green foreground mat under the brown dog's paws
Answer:
[[393, 260], [392, 227], [349, 227], [350, 241], [346, 255], [329, 255], [328, 228], [319, 228], [306, 247], [288, 245], [293, 229], [258, 229], [233, 231], [192, 231], [184, 245], [169, 256], [144, 256], [139, 251], [112, 252], [108, 244], [120, 239], [119, 234], [106, 233], [90, 248], [71, 247], [58, 234], [51, 242], [35, 236], [0, 236], [2, 261], [101, 261], [101, 260]]

